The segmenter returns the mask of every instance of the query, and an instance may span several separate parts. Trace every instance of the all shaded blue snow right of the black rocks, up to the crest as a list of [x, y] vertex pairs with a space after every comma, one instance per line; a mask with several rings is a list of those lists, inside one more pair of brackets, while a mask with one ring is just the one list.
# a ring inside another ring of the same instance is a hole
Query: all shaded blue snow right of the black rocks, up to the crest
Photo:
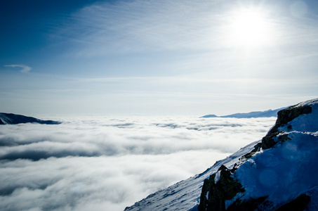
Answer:
[[[256, 153], [234, 172], [246, 190], [242, 199], [269, 196], [267, 200], [279, 205], [308, 192], [312, 196], [310, 209], [317, 210], [318, 104], [315, 100], [300, 105], [312, 106], [312, 113], [279, 128], [289, 140]], [[288, 125], [292, 126], [290, 132], [286, 132]]]

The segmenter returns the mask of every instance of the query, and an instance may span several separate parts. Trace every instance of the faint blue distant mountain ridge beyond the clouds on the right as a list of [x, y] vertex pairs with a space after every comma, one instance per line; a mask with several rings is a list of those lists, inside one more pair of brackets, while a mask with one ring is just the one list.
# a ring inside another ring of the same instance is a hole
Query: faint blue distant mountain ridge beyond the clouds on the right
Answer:
[[[286, 108], [286, 107], [284, 107]], [[284, 108], [278, 108], [275, 110], [265, 110], [265, 111], [253, 111], [250, 113], [234, 113], [232, 115], [217, 116], [217, 115], [204, 115], [200, 118], [211, 118], [211, 117], [222, 117], [222, 118], [258, 118], [258, 117], [277, 117], [279, 110]]]

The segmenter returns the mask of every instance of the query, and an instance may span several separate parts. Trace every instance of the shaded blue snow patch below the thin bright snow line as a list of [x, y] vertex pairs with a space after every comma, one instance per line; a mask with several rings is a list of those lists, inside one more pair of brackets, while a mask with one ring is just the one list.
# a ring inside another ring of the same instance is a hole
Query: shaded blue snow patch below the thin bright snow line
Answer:
[[245, 162], [235, 172], [246, 189], [244, 198], [270, 196], [268, 200], [278, 203], [318, 186], [318, 136], [292, 132], [289, 137], [281, 146], [254, 156], [255, 167]]

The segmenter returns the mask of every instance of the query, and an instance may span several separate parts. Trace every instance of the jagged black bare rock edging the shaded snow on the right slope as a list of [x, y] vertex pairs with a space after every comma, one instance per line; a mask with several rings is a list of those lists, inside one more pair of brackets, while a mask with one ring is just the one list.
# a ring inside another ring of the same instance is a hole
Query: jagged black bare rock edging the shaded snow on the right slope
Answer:
[[[277, 143], [281, 143], [289, 140], [288, 134], [284, 131], [279, 131], [279, 127], [287, 125], [291, 120], [295, 119], [299, 115], [312, 113], [311, 106], [291, 106], [278, 112], [277, 121], [263, 137], [262, 141], [258, 143], [253, 151], [247, 153], [241, 157], [241, 160], [251, 158], [260, 149], [272, 148]], [[292, 127], [287, 127], [292, 129]], [[275, 207], [270, 201], [267, 200], [268, 196], [260, 198], [249, 198], [249, 200], [241, 200], [240, 196], [244, 195], [243, 186], [235, 180], [234, 172], [239, 167], [235, 164], [232, 170], [227, 169], [225, 166], [221, 166], [217, 173], [211, 174], [211, 176], [204, 181], [204, 185], [201, 191], [201, 198], [198, 210], [305, 210], [307, 204], [310, 202], [310, 196], [301, 194], [296, 199], [286, 202], [281, 207]], [[219, 177], [216, 179], [216, 177]], [[217, 181], [217, 182], [215, 182]], [[241, 194], [241, 195], [240, 195]], [[234, 198], [236, 197], [236, 198]], [[225, 200], [234, 200], [233, 203], [226, 206]], [[278, 208], [278, 209], [277, 209]]]

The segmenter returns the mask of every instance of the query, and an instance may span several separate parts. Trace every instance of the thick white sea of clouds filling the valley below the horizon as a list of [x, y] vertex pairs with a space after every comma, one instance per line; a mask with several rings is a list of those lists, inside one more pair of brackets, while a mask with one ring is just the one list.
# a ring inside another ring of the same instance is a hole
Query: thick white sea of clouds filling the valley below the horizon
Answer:
[[0, 126], [0, 210], [124, 210], [261, 139], [276, 118], [53, 120]]

